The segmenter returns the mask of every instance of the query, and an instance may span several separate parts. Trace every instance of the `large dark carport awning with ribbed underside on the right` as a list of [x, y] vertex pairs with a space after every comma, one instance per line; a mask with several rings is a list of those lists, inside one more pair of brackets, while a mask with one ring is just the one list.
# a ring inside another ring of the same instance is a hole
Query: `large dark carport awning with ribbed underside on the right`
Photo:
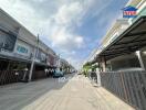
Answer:
[[140, 16], [126, 31], [124, 31], [116, 40], [106, 46], [96, 57], [106, 61], [131, 54], [146, 46], [146, 16]]

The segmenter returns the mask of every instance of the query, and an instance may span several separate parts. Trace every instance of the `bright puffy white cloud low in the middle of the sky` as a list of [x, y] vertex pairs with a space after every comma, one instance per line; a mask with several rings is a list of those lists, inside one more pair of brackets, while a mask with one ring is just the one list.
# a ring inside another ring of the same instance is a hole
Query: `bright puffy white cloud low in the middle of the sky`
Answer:
[[51, 36], [52, 44], [60, 50], [77, 50], [84, 47], [84, 38], [83, 36], [75, 36], [67, 33], [65, 28], [56, 29], [54, 34]]

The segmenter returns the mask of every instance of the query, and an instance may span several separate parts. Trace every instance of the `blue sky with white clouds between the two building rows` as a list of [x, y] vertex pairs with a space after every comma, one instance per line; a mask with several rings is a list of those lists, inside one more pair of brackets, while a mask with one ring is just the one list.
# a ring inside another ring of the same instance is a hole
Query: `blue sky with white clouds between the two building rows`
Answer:
[[128, 0], [0, 0], [0, 8], [80, 67]]

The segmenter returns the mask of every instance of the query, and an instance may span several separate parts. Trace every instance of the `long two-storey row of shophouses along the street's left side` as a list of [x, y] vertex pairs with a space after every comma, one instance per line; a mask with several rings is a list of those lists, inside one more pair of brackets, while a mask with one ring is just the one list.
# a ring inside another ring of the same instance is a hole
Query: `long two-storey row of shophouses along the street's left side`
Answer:
[[18, 81], [18, 77], [24, 76], [38, 79], [45, 77], [44, 72], [50, 76], [58, 66], [69, 72], [73, 69], [39, 36], [0, 9], [0, 84]]

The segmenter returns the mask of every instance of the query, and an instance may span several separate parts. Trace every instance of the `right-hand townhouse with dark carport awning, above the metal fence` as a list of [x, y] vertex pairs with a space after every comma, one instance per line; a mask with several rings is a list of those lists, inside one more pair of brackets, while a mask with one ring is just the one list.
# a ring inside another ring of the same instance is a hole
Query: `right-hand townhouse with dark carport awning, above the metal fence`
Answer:
[[146, 1], [131, 0], [125, 7], [128, 6], [137, 9], [136, 18], [116, 20], [102, 40], [102, 52], [97, 55], [101, 58], [96, 61], [104, 72], [146, 68]]

